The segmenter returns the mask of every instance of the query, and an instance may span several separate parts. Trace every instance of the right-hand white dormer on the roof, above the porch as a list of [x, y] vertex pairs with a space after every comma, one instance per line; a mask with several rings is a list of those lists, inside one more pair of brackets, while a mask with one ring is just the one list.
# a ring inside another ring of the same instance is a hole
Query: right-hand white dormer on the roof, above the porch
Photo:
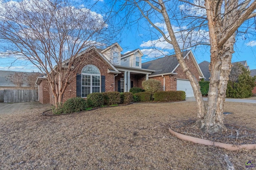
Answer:
[[136, 49], [128, 53], [125, 53], [121, 56], [121, 65], [134, 68], [141, 68], [142, 56], [143, 53], [140, 51], [140, 49]]

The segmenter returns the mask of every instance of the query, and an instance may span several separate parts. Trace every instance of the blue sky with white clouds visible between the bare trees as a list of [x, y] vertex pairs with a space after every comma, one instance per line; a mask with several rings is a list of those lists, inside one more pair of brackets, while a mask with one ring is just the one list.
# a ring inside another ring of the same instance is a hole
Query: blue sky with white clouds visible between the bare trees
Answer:
[[[99, 4], [95, 6], [95, 11], [99, 8], [106, 8], [106, 2], [100, 0]], [[122, 17], [123, 14], [120, 14]], [[132, 51], [134, 49], [140, 49], [144, 56], [142, 62], [150, 61], [164, 55], [172, 55], [174, 51], [171, 46], [166, 45], [165, 42], [157, 42], [152, 48], [152, 41], [156, 42], [160, 35], [150, 33], [148, 29], [150, 26], [145, 20], [141, 20], [137, 23], [126, 23], [123, 27], [122, 33], [117, 33], [117, 38], [112, 40], [112, 43], [118, 42], [123, 48], [122, 53]], [[152, 28], [151, 28], [152, 29]], [[164, 27], [163, 27], [164, 29]], [[154, 30], [154, 29], [153, 29]], [[253, 35], [242, 35], [236, 37], [237, 43], [234, 47], [235, 53], [232, 57], [232, 62], [247, 61], [250, 69], [256, 69], [256, 41]], [[0, 47], [0, 50], [1, 47]], [[210, 47], [205, 45], [199, 45], [192, 49], [194, 56], [198, 63], [202, 61], [210, 62]], [[14, 62], [15, 61], [15, 62]], [[27, 71], [37, 72], [38, 69], [30, 64], [28, 61], [13, 58], [0, 58], [0, 70], [15, 70], [15, 71]]]

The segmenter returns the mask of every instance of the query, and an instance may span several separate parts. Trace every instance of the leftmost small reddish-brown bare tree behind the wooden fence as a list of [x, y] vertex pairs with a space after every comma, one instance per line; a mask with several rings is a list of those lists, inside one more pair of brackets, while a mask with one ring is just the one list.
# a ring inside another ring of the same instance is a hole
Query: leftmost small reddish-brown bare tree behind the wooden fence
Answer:
[[6, 80], [9, 80], [13, 84], [15, 84], [16, 88], [21, 88], [23, 85], [27, 84], [28, 74], [25, 72], [15, 72], [13, 74], [8, 74]]

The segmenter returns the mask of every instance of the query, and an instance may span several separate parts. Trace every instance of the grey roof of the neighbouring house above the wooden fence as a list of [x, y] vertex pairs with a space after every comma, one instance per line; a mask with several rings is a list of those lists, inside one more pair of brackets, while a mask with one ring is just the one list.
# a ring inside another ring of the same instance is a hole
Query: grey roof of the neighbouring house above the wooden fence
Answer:
[[[15, 73], [26, 73], [28, 75], [36, 72], [19, 72], [19, 71], [4, 71], [0, 70], [0, 87], [16, 87], [13, 82], [8, 80], [8, 76]], [[28, 84], [23, 84], [22, 87], [30, 87]]]

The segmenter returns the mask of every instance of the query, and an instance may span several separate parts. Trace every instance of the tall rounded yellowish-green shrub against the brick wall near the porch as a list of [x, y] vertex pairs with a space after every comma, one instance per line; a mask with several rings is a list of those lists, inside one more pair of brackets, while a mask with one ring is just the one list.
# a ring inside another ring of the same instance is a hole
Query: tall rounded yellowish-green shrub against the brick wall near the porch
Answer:
[[163, 89], [161, 82], [155, 79], [144, 80], [142, 82], [142, 87], [145, 89], [145, 92], [150, 92], [152, 94], [154, 92], [162, 91]]

